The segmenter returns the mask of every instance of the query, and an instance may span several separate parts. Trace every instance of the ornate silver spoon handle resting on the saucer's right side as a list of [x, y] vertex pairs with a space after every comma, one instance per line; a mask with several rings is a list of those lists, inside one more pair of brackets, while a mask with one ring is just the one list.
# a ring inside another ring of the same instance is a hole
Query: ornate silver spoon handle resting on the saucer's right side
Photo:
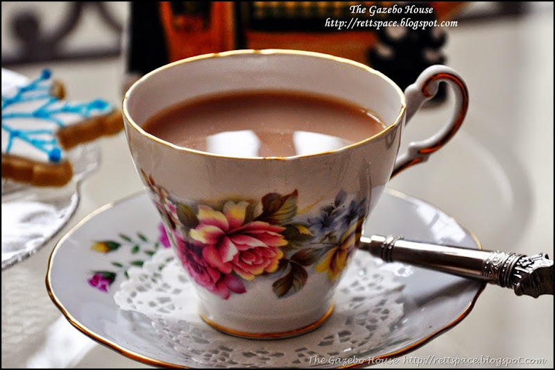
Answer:
[[545, 253], [522, 255], [460, 246], [411, 242], [402, 236], [361, 237], [360, 249], [386, 262], [406, 262], [509, 287], [515, 294], [538, 298], [554, 294], [553, 261]]

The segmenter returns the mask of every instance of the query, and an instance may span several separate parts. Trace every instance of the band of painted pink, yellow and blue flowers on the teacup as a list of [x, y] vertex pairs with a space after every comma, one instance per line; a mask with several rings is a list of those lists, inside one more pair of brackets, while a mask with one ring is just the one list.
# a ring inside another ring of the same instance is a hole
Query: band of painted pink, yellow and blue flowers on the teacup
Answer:
[[275, 276], [272, 289], [279, 298], [298, 293], [308, 269], [334, 283], [355, 250], [366, 209], [366, 201], [347, 205], [343, 191], [316, 217], [299, 217], [297, 190], [268, 193], [259, 201], [185, 203], [160, 185], [151, 189], [155, 203], [164, 204], [158, 210], [183, 267], [200, 287], [223, 299], [246, 293], [246, 282], [257, 276]]

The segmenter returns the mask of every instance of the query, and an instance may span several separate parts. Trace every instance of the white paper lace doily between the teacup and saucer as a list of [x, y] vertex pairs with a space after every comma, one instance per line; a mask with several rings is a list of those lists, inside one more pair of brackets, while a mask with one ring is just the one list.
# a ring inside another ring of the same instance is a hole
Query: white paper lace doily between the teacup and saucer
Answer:
[[[128, 270], [114, 295], [119, 308], [151, 319], [160, 340], [201, 367], [341, 367], [384, 345], [403, 314], [404, 285], [380, 269], [368, 253], [356, 252], [335, 296], [330, 318], [311, 333], [289, 339], [253, 340], [225, 335], [196, 311], [191, 281], [171, 249], [161, 249], [142, 267]], [[350, 361], [350, 362], [348, 362]]]

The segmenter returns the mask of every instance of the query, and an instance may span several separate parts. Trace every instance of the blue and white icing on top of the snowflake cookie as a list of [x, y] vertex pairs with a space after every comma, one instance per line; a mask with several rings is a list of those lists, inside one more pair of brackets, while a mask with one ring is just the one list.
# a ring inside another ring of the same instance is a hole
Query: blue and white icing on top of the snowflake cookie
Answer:
[[[13, 146], [20, 141], [45, 153], [50, 162], [58, 163], [62, 160], [63, 151], [56, 133], [58, 129], [67, 126], [60, 115], [79, 115], [87, 119], [94, 113], [107, 113], [113, 110], [110, 103], [101, 99], [86, 103], [69, 103], [58, 99], [51, 94], [50, 78], [50, 70], [44, 69], [39, 78], [19, 87], [12, 96], [2, 94], [3, 152], [10, 153]], [[24, 103], [35, 103], [37, 106], [33, 110], [18, 109], [18, 105]], [[33, 128], [25, 128], [25, 122], [30, 119], [33, 122], [44, 121], [44, 128], [37, 128], [36, 124]], [[55, 128], [51, 128], [52, 124], [55, 124]]]

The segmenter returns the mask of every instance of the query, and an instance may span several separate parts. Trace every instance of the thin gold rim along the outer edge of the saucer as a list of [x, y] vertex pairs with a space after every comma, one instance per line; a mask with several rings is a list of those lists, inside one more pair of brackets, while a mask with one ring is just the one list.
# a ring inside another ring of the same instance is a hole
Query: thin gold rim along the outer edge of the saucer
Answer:
[[[418, 199], [414, 196], [409, 196], [409, 195], [404, 194], [402, 192], [399, 192], [397, 190], [386, 189], [385, 191], [388, 192], [389, 194], [392, 194], [393, 196], [397, 196], [398, 198], [402, 198], [402, 199], [406, 199], [406, 200], [416, 199], [417, 201], [429, 204], [430, 206], [436, 208], [434, 205], [431, 205], [430, 203], [422, 201], [421, 199]], [[153, 358], [148, 358], [145, 355], [141, 355], [139, 353], [129, 351], [126, 348], [123, 348], [123, 346], [120, 346], [119, 344], [114, 343], [114, 342], [112, 342], [108, 339], [105, 339], [104, 337], [101, 337], [101, 335], [98, 335], [98, 334], [94, 333], [92, 330], [89, 330], [88, 328], [83, 326], [83, 324], [81, 324], [77, 319], [75, 319], [66, 310], [66, 308], [60, 302], [60, 300], [58, 299], [58, 297], [56, 296], [56, 294], [53, 292], [53, 289], [52, 289], [52, 285], [51, 285], [52, 261], [53, 261], [54, 256], [56, 255], [58, 249], [60, 249], [60, 246], [63, 244], [63, 242], [65, 242], [66, 239], [69, 239], [69, 237], [78, 228], [80, 228], [81, 226], [86, 224], [87, 221], [89, 221], [90, 219], [92, 219], [96, 215], [99, 215], [102, 212], [105, 212], [106, 210], [108, 210], [110, 208], [114, 208], [116, 205], [119, 205], [120, 203], [124, 203], [124, 202], [126, 202], [130, 199], [133, 199], [133, 198], [135, 198], [135, 196], [140, 196], [141, 194], [143, 194], [143, 192], [137, 192], [135, 194], [130, 194], [129, 196], [124, 197], [123, 199], [119, 199], [118, 201], [114, 201], [114, 202], [105, 204], [105, 205], [101, 206], [100, 208], [98, 208], [97, 210], [94, 210], [89, 215], [85, 216], [81, 221], [79, 221], [73, 228], [71, 228], [60, 239], [60, 241], [58, 243], [56, 243], [56, 246], [54, 246], [54, 248], [51, 252], [51, 255], [50, 255], [50, 258], [49, 258], [49, 261], [48, 261], [48, 267], [47, 267], [47, 270], [46, 270], [46, 291], [48, 292], [48, 294], [49, 294], [51, 300], [53, 301], [53, 303], [58, 307], [58, 309], [62, 312], [62, 314], [69, 321], [69, 323], [71, 323], [71, 325], [73, 325], [75, 328], [77, 328], [81, 333], [83, 333], [83, 334], [87, 335], [88, 337], [94, 339], [96, 342], [99, 342], [99, 344], [103, 344], [104, 346], [108, 346], [108, 348], [111, 348], [114, 351], [117, 351], [118, 353], [121, 353], [121, 355], [124, 355], [127, 358], [130, 358], [132, 360], [142, 362], [144, 364], [150, 364], [150, 365], [154, 365], [154, 366], [158, 366], [158, 367], [169, 367], [169, 368], [174, 368], [174, 369], [189, 369], [189, 367], [184, 366], [184, 365], [172, 364], [172, 363], [169, 363], [169, 362], [155, 360]], [[436, 208], [436, 209], [443, 212], [443, 210], [441, 210], [439, 208]], [[454, 219], [453, 217], [451, 217], [450, 215], [448, 215], [445, 212], [443, 212], [443, 213], [445, 215], [447, 215], [448, 217], [450, 217], [451, 219], [453, 219], [459, 226], [461, 226], [461, 224], [459, 224], [459, 222], [457, 222], [456, 219]], [[482, 247], [481, 247], [481, 244], [480, 244], [479, 240], [477, 239], [477, 237], [474, 234], [470, 233], [470, 231], [468, 231], [463, 226], [461, 226], [461, 228], [463, 228], [463, 230], [465, 230], [466, 233], [468, 233], [470, 235], [470, 237], [472, 237], [472, 239], [477, 244], [477, 247], [478, 247], [477, 249], [481, 250]], [[445, 327], [441, 328], [440, 330], [437, 330], [436, 332], [432, 333], [431, 335], [428, 335], [427, 337], [422, 338], [418, 342], [415, 342], [415, 343], [413, 343], [413, 344], [411, 344], [407, 347], [401, 348], [398, 351], [393, 351], [391, 353], [386, 353], [385, 355], [376, 356], [374, 359], [375, 360], [384, 360], [384, 359], [387, 359], [387, 358], [395, 358], [395, 357], [398, 357], [398, 356], [400, 356], [404, 353], [414, 351], [416, 348], [419, 348], [420, 346], [426, 344], [431, 339], [434, 339], [438, 335], [441, 335], [442, 333], [445, 333], [445, 331], [453, 328], [454, 326], [456, 326], [456, 324], [460, 323], [466, 316], [468, 316], [468, 314], [470, 313], [470, 311], [474, 307], [479, 295], [481, 294], [481, 292], [484, 291], [486, 285], [487, 285], [487, 283], [482, 283], [481, 284], [481, 286], [479, 287], [479, 289], [475, 293], [474, 298], [472, 298], [472, 301], [468, 304], [468, 306], [465, 308], [465, 310], [463, 310], [463, 312], [459, 315], [459, 317], [456, 317], [456, 318], [453, 319], [453, 321], [451, 321], [450, 323], [447, 323], [447, 325]], [[366, 362], [363, 363], [363, 364], [357, 363], [357, 364], [353, 364], [353, 365], [343, 367], [343, 368], [356, 368], [356, 367], [362, 367], [362, 366], [366, 366], [366, 365], [367, 365]]]

